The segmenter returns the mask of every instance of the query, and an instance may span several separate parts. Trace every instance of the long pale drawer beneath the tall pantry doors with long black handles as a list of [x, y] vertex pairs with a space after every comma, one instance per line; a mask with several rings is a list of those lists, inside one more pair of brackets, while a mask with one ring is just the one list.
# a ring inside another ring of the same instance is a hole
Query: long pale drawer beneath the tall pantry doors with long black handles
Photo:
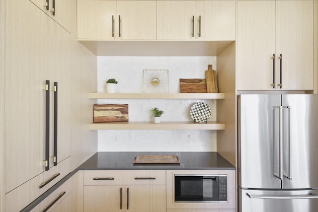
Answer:
[[[71, 157], [5, 194], [5, 211], [21, 211], [71, 172]], [[40, 188], [41, 187], [41, 188]]]

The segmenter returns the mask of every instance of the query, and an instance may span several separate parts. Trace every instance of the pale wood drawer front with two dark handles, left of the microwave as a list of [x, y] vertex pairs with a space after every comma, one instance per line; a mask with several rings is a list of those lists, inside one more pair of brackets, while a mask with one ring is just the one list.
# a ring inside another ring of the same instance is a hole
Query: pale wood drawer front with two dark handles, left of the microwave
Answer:
[[84, 185], [165, 185], [165, 170], [84, 171]]

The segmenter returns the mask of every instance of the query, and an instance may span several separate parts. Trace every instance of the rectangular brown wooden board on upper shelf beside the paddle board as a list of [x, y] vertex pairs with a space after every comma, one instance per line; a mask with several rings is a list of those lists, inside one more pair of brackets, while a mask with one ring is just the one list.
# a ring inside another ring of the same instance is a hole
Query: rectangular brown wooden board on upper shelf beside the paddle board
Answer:
[[207, 93], [205, 79], [180, 79], [181, 93]]

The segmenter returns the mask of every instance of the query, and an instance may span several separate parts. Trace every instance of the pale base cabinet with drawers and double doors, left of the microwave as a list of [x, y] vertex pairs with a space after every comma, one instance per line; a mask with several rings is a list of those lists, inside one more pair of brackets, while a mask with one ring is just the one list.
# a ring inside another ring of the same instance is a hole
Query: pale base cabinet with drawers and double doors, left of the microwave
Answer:
[[165, 212], [165, 171], [84, 171], [84, 212], [105, 210]]

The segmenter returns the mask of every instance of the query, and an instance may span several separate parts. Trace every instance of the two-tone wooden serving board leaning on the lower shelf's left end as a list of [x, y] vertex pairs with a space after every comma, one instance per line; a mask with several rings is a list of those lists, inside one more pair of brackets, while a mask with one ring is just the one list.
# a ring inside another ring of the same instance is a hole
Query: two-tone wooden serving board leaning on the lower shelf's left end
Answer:
[[128, 104], [94, 105], [93, 122], [128, 122]]

